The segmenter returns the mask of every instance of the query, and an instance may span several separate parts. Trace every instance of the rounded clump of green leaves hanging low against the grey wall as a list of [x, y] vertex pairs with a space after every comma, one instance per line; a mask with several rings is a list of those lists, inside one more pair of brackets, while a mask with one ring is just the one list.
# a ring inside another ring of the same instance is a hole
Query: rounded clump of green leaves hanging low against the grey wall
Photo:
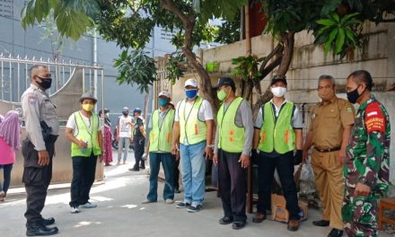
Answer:
[[114, 60], [114, 66], [118, 68], [119, 75], [117, 82], [119, 84], [127, 83], [138, 86], [141, 93], [148, 92], [149, 87], [156, 81], [156, 67], [154, 58], [148, 57], [147, 52], [136, 50], [129, 53], [123, 50], [117, 59]]

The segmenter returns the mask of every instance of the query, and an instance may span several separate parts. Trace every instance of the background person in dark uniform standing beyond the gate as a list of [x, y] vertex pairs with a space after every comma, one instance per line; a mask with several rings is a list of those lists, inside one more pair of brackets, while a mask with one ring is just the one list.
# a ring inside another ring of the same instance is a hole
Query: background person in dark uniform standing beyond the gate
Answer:
[[136, 125], [133, 136], [133, 142], [135, 145], [135, 165], [129, 171], [139, 171], [145, 169], [145, 161], [143, 159], [144, 147], [145, 147], [145, 126], [144, 118], [141, 117], [141, 109], [135, 108], [133, 110], [133, 117], [135, 118]]

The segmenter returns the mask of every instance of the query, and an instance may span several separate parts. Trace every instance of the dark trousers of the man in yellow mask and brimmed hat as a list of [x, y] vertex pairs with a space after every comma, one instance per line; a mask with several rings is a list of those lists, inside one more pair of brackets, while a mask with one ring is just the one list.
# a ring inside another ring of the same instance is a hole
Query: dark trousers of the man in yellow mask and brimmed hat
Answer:
[[97, 155], [73, 156], [73, 180], [71, 181], [71, 201], [72, 207], [83, 205], [89, 200], [94, 176], [96, 172]]

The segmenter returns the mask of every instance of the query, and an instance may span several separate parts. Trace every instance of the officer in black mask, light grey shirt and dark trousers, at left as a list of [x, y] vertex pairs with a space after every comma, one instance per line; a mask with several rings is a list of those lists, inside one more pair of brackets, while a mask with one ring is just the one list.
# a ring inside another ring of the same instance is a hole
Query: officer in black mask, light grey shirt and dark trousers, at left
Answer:
[[56, 105], [49, 100], [46, 90], [52, 79], [47, 66], [31, 66], [31, 87], [22, 94], [22, 110], [26, 126], [26, 139], [22, 142], [23, 177], [26, 189], [26, 235], [52, 235], [58, 232], [50, 217], [44, 219], [41, 211], [47, 198], [52, 178], [52, 157], [55, 153], [59, 125]]

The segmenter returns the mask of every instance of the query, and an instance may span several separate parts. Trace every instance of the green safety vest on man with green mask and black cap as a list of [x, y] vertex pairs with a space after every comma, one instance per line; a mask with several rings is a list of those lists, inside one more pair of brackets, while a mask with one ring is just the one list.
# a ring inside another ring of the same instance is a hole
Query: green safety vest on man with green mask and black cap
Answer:
[[219, 126], [218, 148], [228, 153], [241, 153], [244, 149], [244, 127], [238, 127], [235, 123], [241, 101], [241, 97], [234, 99], [226, 111], [222, 104], [216, 117]]

